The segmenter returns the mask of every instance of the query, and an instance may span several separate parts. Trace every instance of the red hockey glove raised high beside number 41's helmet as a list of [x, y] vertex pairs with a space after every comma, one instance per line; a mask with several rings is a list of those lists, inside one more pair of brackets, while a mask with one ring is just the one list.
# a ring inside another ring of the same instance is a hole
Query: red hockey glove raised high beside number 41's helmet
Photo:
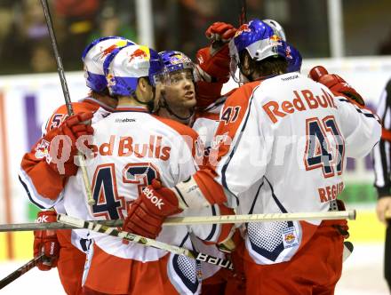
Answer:
[[236, 33], [236, 28], [225, 22], [215, 22], [206, 29], [205, 36], [211, 46], [200, 49], [196, 58], [197, 70], [205, 82], [226, 83], [229, 79], [228, 42]]

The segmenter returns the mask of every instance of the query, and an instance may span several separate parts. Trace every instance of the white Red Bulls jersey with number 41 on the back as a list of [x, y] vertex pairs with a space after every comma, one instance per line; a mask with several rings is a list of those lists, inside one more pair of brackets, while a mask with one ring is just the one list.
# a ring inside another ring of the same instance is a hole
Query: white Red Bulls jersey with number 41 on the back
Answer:
[[[367, 155], [380, 137], [371, 111], [298, 73], [244, 84], [219, 120], [210, 167], [242, 213], [328, 211], [346, 157]], [[247, 250], [259, 264], [289, 260], [320, 222], [249, 223]]]

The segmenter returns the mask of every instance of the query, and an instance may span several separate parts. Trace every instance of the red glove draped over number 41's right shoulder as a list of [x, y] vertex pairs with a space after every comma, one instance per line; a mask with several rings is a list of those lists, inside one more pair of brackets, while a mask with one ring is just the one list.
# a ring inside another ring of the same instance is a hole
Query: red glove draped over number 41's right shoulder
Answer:
[[322, 66], [317, 66], [309, 71], [309, 77], [320, 84], [325, 85], [335, 95], [343, 95], [349, 100], [354, 100], [361, 107], [365, 106], [363, 97], [347, 82], [336, 74], [329, 74]]

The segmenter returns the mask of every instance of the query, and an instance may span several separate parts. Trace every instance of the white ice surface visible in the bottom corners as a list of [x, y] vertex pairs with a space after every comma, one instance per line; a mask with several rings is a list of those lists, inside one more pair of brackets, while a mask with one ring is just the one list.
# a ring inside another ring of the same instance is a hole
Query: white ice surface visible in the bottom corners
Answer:
[[[387, 284], [383, 279], [384, 244], [355, 244], [355, 251], [344, 264], [336, 295], [388, 295]], [[9, 275], [27, 261], [2, 262], [0, 277]], [[2, 291], [2, 295], [65, 294], [60, 285], [57, 270], [41, 272], [37, 268], [20, 276]]]

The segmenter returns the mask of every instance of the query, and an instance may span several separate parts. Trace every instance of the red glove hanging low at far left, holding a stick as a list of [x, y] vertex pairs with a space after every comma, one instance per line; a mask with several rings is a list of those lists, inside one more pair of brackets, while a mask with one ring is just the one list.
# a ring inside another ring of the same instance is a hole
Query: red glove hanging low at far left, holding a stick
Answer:
[[[56, 222], [57, 213], [55, 211], [40, 211], [36, 216], [36, 222]], [[44, 253], [44, 259], [37, 267], [40, 270], [50, 270], [57, 267], [60, 255], [60, 243], [54, 230], [34, 231], [34, 257]]]

